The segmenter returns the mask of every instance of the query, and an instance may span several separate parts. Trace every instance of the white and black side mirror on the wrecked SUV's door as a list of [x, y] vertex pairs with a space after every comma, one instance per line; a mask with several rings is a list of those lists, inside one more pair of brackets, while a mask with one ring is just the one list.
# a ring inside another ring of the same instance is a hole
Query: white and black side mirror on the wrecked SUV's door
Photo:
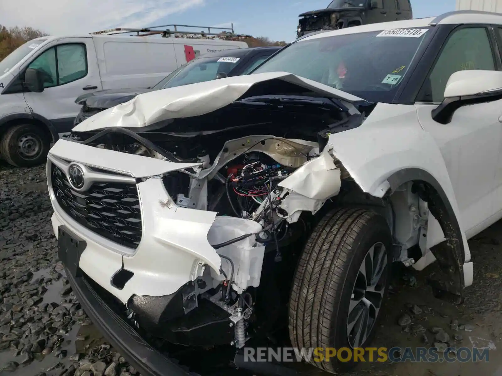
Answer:
[[502, 72], [458, 71], [448, 79], [444, 100], [432, 110], [432, 118], [438, 123], [448, 124], [455, 111], [462, 106], [499, 99], [502, 99]]

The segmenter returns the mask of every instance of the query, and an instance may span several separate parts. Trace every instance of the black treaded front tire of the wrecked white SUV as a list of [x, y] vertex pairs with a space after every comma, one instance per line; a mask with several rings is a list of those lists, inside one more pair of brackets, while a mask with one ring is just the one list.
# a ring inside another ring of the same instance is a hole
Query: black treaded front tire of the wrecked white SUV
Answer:
[[[375, 247], [372, 248], [372, 245]], [[361, 339], [360, 345], [353, 346], [354, 337], [349, 341], [347, 334], [349, 305], [356, 280], [358, 284], [361, 283], [359, 268], [362, 268], [363, 261], [367, 261], [370, 248], [375, 250], [375, 255], [382, 255], [382, 264], [386, 262], [380, 268], [382, 273], [380, 282], [376, 284], [379, 288], [376, 300], [381, 299], [380, 307], [387, 300], [391, 246], [392, 237], [387, 221], [374, 212], [339, 208], [324, 216], [305, 245], [293, 281], [289, 302], [289, 333], [293, 346], [300, 349], [322, 347], [326, 354], [327, 347], [337, 350], [342, 347], [364, 348], [371, 342], [381, 316], [378, 314], [380, 308], [374, 310], [376, 320], [372, 321], [366, 339]], [[376, 247], [380, 247], [380, 251], [376, 251]], [[385, 287], [382, 297], [381, 287]], [[364, 305], [364, 302], [375, 300], [374, 294], [366, 293], [361, 300], [355, 299], [354, 304], [359, 301], [355, 307], [367, 309], [365, 307], [369, 306]], [[376, 353], [374, 355], [376, 358]], [[347, 358], [347, 353], [343, 353], [342, 358]], [[332, 373], [337, 369], [348, 370], [356, 364], [353, 359], [344, 362], [335, 359], [312, 359], [311, 363]]]

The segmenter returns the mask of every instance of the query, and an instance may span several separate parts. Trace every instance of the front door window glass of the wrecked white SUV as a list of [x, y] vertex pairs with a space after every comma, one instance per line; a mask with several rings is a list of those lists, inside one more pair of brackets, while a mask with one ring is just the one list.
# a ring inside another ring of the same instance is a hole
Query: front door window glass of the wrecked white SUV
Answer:
[[450, 76], [467, 69], [495, 70], [485, 28], [464, 28], [453, 32], [420, 90], [417, 100], [441, 102]]

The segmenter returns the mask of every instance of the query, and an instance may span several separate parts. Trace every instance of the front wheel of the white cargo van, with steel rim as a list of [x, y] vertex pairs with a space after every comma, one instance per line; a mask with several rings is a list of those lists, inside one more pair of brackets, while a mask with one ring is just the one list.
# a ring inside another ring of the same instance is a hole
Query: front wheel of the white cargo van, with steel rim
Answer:
[[18, 124], [7, 130], [0, 142], [0, 152], [16, 167], [32, 167], [45, 162], [50, 148], [50, 137], [34, 124]]

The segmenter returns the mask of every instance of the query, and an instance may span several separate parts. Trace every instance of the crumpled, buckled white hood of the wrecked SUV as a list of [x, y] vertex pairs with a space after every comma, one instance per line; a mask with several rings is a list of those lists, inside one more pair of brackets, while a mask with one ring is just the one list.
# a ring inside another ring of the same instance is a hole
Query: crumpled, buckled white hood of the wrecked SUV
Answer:
[[129, 102], [108, 108], [82, 121], [74, 131], [108, 127], [142, 128], [159, 121], [204, 115], [241, 98], [252, 88], [267, 87], [273, 80], [294, 85], [328, 98], [340, 99], [357, 110], [352, 102], [364, 101], [354, 95], [287, 72], [271, 72], [227, 77], [140, 94]]

